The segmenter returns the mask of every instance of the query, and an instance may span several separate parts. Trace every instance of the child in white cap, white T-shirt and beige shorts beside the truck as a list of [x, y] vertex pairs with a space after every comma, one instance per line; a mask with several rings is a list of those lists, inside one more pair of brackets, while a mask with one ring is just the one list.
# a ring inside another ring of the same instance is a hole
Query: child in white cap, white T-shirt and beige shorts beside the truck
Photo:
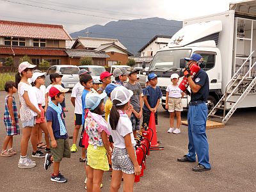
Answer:
[[[181, 117], [180, 112], [183, 111], [183, 106], [181, 99], [184, 97], [184, 93], [180, 90], [178, 86], [179, 75], [172, 74], [171, 76], [172, 84], [168, 85], [166, 88], [166, 104], [165, 108], [168, 109], [170, 112], [170, 129], [168, 130], [169, 133], [180, 133], [180, 124], [181, 124]], [[174, 116], [176, 115], [177, 118], [177, 128], [174, 129]]]

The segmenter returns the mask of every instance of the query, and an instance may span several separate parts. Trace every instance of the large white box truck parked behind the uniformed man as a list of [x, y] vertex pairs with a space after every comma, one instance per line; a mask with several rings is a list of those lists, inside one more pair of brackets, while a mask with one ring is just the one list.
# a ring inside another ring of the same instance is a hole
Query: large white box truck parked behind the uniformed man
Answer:
[[[183, 58], [193, 53], [201, 54], [205, 60], [200, 67], [209, 76], [207, 106], [209, 112], [212, 111], [211, 116], [222, 109], [221, 118], [227, 122], [236, 108], [256, 106], [253, 65], [256, 61], [256, 52], [253, 52], [256, 50], [256, 9], [253, 7], [256, 7], [255, 1], [230, 3], [227, 12], [184, 20], [183, 28], [173, 35], [166, 47], [157, 51], [148, 70], [159, 76], [163, 107], [171, 74], [182, 76]], [[182, 99], [185, 108], [189, 100], [189, 96]], [[229, 115], [227, 109], [231, 111]]]

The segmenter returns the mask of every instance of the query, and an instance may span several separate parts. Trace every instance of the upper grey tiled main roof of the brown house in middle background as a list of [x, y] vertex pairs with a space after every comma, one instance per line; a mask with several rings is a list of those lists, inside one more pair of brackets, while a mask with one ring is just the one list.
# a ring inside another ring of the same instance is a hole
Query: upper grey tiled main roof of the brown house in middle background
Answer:
[[[111, 44], [115, 42], [116, 45], [121, 47], [122, 49], [127, 49], [123, 44], [121, 44], [117, 39], [112, 38], [93, 38], [93, 37], [82, 37], [79, 36], [77, 38], [77, 41], [79, 41], [85, 48], [91, 48], [96, 49], [100, 47], [102, 44]], [[75, 48], [75, 47], [72, 47]]]

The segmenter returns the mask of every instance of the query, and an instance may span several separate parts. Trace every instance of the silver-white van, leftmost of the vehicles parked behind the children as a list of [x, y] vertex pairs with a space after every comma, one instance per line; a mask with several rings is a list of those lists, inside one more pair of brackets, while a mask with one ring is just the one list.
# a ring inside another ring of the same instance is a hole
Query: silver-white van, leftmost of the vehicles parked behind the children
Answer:
[[60, 72], [63, 75], [61, 82], [64, 84], [64, 87], [72, 89], [79, 81], [79, 70], [79, 67], [77, 67], [76, 65], [52, 65], [47, 69], [45, 86], [49, 86], [49, 84], [51, 84], [50, 75], [52, 73]]

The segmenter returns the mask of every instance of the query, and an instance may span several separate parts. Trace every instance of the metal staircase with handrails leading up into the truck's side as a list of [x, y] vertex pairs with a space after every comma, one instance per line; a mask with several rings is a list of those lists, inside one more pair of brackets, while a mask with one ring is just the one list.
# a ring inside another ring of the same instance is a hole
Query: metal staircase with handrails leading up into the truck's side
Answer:
[[[214, 106], [212, 111], [209, 113], [209, 117], [218, 117], [222, 119], [222, 123], [225, 124], [229, 120], [229, 118], [236, 111], [237, 106], [241, 103], [241, 101], [250, 93], [252, 88], [256, 84], [255, 72], [253, 74], [253, 68], [256, 67], [256, 61], [253, 65], [250, 65], [248, 69], [248, 65], [246, 62], [252, 61], [252, 55], [255, 51], [253, 51], [250, 56], [244, 61], [243, 65], [236, 71], [236, 74], [230, 79], [226, 88], [225, 94], [219, 102]], [[235, 97], [236, 96], [236, 97]], [[238, 98], [237, 98], [238, 97]], [[226, 114], [227, 104], [230, 104], [232, 107]], [[215, 113], [221, 110], [223, 115], [215, 115]]]

